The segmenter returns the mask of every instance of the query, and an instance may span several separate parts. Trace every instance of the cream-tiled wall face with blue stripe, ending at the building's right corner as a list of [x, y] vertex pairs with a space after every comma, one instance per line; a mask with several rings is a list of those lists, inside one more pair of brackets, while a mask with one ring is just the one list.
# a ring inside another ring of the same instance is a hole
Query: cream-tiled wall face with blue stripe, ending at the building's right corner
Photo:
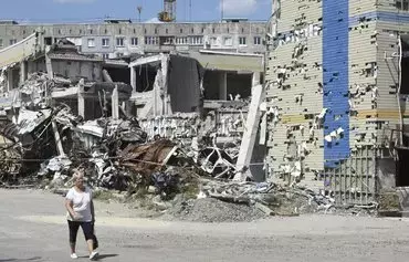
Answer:
[[331, 189], [339, 201], [374, 197], [376, 2], [281, 1], [266, 61], [272, 179]]

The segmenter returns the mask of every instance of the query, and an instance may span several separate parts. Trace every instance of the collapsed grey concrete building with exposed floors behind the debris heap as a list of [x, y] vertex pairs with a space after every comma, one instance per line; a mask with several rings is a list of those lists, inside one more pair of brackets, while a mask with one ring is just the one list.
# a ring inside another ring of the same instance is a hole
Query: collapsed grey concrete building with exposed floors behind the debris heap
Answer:
[[[243, 137], [251, 137], [254, 129], [258, 133], [259, 118], [248, 115], [254, 88], [261, 90], [263, 82], [263, 55], [199, 50], [103, 60], [80, 50], [69, 39], [49, 45], [43, 32], [1, 50], [1, 108], [6, 119], [19, 128], [29, 120], [23, 116], [40, 117], [31, 124], [35, 127], [52, 119], [50, 123], [56, 122], [53, 127], [57, 125], [60, 132], [61, 126], [65, 126], [63, 130], [69, 128], [88, 151], [124, 128], [136, 132], [130, 136], [138, 143], [171, 139], [186, 148], [188, 157], [202, 170], [218, 178], [233, 178], [245, 169], [245, 179], [253, 155], [258, 164], [251, 169], [262, 169], [264, 146], [254, 147], [254, 138]], [[44, 106], [51, 112], [40, 114]], [[107, 117], [109, 120], [105, 120]], [[138, 127], [133, 127], [132, 122], [126, 122], [127, 127], [120, 124], [120, 119], [130, 118], [138, 119]], [[27, 133], [35, 133], [35, 127]], [[19, 130], [14, 136], [9, 129], [15, 128], [6, 125], [1, 132], [14, 143], [27, 134]], [[59, 130], [52, 132], [56, 145], [44, 157], [54, 154], [63, 159], [72, 147], [57, 143]], [[38, 135], [31, 140], [39, 139]], [[127, 144], [129, 138], [123, 142]], [[256, 154], [252, 154], [253, 149]], [[115, 153], [111, 157], [117, 156]], [[264, 180], [259, 170], [254, 179]]]

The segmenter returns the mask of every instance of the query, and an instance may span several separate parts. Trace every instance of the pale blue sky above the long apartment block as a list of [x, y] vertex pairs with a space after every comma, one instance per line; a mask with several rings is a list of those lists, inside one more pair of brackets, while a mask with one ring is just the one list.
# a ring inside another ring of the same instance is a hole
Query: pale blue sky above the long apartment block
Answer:
[[[271, 15], [272, 0], [177, 0], [177, 20], [220, 20], [221, 2], [224, 18], [268, 20]], [[0, 20], [91, 22], [106, 17], [137, 20], [138, 6], [143, 7], [141, 20], [149, 20], [161, 11], [162, 0], [1, 0]]]

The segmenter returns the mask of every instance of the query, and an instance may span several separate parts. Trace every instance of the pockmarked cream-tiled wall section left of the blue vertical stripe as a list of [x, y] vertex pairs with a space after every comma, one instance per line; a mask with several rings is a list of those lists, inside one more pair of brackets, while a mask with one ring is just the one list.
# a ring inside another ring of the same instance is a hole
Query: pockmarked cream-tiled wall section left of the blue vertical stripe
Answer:
[[321, 8], [321, 1], [281, 1], [279, 46], [266, 61], [270, 175], [312, 189], [324, 169]]

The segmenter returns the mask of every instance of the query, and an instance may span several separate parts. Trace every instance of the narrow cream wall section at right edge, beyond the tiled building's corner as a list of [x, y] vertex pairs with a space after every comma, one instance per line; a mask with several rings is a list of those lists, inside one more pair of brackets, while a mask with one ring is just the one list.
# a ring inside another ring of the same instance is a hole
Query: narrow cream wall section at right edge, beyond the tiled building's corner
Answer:
[[[390, 129], [405, 129], [408, 130], [408, 94], [405, 91], [407, 87], [401, 85], [400, 73], [405, 78], [409, 73], [409, 69], [403, 66], [400, 69], [400, 54], [407, 57], [407, 39], [409, 35], [409, 13], [407, 3], [405, 1], [380, 0], [378, 1], [376, 14], [376, 44], [377, 44], [377, 95], [376, 95], [376, 113], [377, 113], [377, 138], [378, 142], [384, 142], [388, 145]], [[400, 40], [402, 52], [400, 52]], [[402, 63], [403, 64], [403, 63]], [[401, 92], [399, 93], [399, 88]], [[389, 132], [387, 132], [389, 130]], [[398, 144], [402, 146], [405, 142], [401, 140], [400, 134], [396, 137]], [[405, 154], [403, 154], [405, 155]], [[392, 156], [386, 156], [389, 161], [392, 161]], [[403, 158], [399, 161], [407, 163], [409, 159]], [[389, 165], [388, 172], [396, 169], [394, 165]], [[380, 172], [381, 175], [382, 172]], [[398, 174], [398, 169], [394, 170], [396, 184], [400, 185], [401, 179], [399, 176], [407, 176], [408, 170], [403, 174]]]

